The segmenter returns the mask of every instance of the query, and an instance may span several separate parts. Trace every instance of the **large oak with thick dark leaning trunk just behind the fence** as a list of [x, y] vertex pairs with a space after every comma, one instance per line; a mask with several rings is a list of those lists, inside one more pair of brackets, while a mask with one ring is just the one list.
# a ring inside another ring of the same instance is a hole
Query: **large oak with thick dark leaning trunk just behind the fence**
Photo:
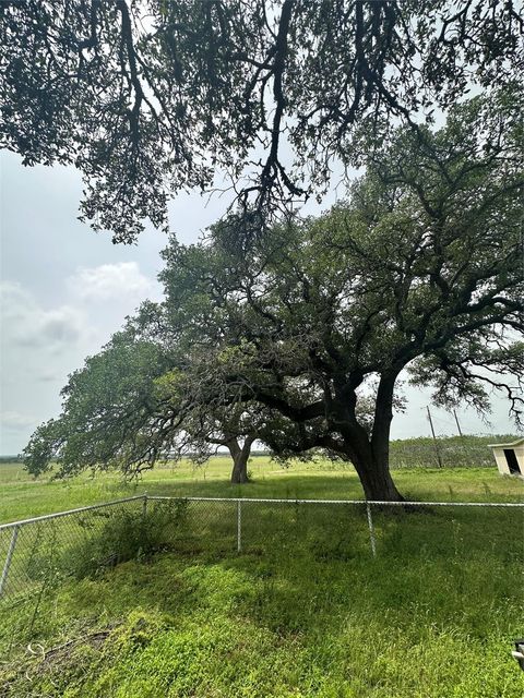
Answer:
[[480, 411], [499, 388], [522, 423], [520, 100], [502, 91], [455, 107], [427, 147], [400, 130], [346, 204], [274, 226], [248, 254], [235, 217], [200, 244], [174, 242], [166, 312], [204, 358], [207, 399], [278, 411], [291, 426], [269, 436], [275, 450], [350, 460], [370, 500], [402, 498], [389, 436], [404, 372]]

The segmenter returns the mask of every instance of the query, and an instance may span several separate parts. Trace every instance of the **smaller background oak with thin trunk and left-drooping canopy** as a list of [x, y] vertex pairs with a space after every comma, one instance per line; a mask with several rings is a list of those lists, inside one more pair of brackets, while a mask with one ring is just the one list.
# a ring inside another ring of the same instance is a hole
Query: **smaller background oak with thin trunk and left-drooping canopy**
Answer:
[[27, 470], [38, 476], [58, 462], [57, 477], [111, 468], [135, 477], [182, 456], [202, 464], [224, 446], [231, 481], [247, 482], [251, 446], [277, 416], [252, 402], [199, 401], [205, 376], [192, 373], [191, 352], [168, 346], [167, 337], [163, 309], [144, 303], [70, 375], [61, 414], [41, 424], [24, 450]]

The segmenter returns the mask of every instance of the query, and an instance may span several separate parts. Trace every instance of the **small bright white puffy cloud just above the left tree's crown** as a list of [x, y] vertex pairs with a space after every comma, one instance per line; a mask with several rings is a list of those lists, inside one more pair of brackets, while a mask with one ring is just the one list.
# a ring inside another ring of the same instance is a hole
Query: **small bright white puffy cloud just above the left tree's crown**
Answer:
[[99, 302], [122, 298], [136, 301], [157, 294], [157, 284], [142, 274], [136, 262], [79, 267], [69, 277], [67, 285], [82, 301]]

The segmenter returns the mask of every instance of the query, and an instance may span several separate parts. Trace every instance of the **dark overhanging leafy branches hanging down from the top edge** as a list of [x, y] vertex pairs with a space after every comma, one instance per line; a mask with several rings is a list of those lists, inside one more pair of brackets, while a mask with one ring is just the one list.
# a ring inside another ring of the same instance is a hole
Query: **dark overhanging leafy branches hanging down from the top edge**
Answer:
[[512, 0], [3, 0], [0, 19], [1, 145], [79, 168], [115, 241], [217, 170], [246, 209], [287, 208], [392, 122], [422, 137], [468, 91], [522, 87]]

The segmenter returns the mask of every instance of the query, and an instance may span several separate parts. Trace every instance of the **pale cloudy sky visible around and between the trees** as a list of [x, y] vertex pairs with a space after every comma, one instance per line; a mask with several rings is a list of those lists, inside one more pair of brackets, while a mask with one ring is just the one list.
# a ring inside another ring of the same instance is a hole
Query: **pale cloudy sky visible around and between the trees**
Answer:
[[[333, 203], [333, 192], [324, 202]], [[73, 168], [23, 167], [0, 154], [0, 455], [19, 454], [36, 426], [60, 412], [60, 389], [146, 298], [159, 300], [156, 275], [166, 237], [150, 226], [135, 245], [114, 245], [78, 220], [82, 181]], [[170, 228], [194, 242], [227, 202], [181, 194]], [[308, 213], [318, 213], [312, 208]], [[427, 390], [407, 387], [392, 437], [430, 435]], [[456, 434], [452, 413], [430, 408], [438, 434]], [[512, 433], [508, 404], [493, 401], [490, 424], [457, 409], [465, 433]]]

